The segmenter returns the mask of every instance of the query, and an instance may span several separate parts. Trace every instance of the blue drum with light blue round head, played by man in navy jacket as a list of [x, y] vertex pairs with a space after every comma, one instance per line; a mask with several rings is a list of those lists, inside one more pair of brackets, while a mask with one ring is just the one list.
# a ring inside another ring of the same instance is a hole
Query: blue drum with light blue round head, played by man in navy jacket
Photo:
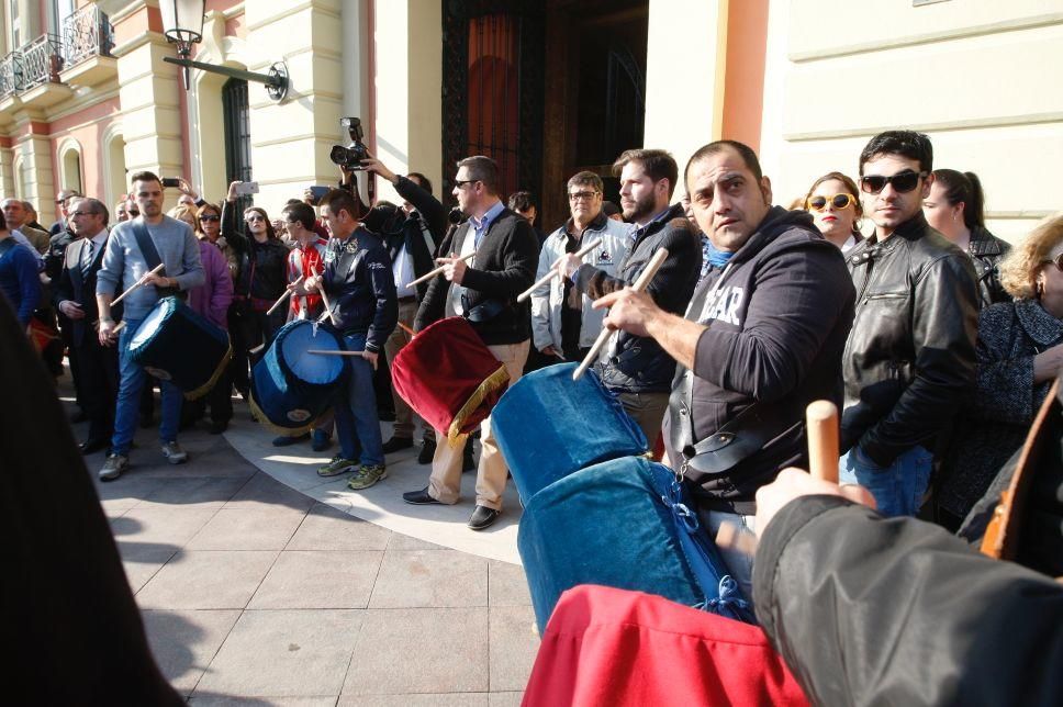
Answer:
[[333, 327], [295, 319], [277, 332], [251, 370], [251, 413], [277, 434], [312, 429], [347, 379], [345, 357], [310, 352], [315, 350], [344, 351], [346, 346]]

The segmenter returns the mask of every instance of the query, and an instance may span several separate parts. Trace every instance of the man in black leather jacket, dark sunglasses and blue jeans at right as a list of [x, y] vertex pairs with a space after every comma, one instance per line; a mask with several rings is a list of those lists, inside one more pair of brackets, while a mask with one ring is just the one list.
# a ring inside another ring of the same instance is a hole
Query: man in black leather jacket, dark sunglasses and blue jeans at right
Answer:
[[860, 155], [875, 233], [847, 258], [857, 312], [843, 358], [840, 472], [886, 516], [918, 512], [933, 453], [974, 388], [976, 278], [922, 214], [932, 160], [930, 139], [911, 131], [876, 135]]

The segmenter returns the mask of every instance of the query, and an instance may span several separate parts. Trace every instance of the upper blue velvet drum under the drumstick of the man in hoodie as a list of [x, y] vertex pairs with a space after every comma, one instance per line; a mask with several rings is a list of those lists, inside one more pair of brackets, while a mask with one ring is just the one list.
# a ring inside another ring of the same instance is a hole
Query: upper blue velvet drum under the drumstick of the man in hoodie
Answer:
[[572, 380], [575, 363], [533, 371], [510, 386], [491, 426], [521, 498], [574, 471], [644, 454], [646, 435], [594, 371]]

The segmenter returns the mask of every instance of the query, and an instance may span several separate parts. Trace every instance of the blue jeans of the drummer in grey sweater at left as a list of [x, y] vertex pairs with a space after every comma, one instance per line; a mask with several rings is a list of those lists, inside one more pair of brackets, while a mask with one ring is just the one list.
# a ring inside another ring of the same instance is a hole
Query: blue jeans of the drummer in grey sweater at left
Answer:
[[[146, 378], [144, 369], [130, 357], [130, 340], [141, 326], [139, 319], [126, 319], [125, 328], [119, 334], [119, 400], [114, 408], [114, 436], [111, 437], [111, 451], [128, 457], [136, 434], [136, 423], [141, 414], [141, 391]], [[169, 381], [159, 381], [163, 391], [163, 422], [159, 423], [159, 440], [177, 441], [177, 430], [181, 424], [181, 401], [184, 396], [180, 389]]]

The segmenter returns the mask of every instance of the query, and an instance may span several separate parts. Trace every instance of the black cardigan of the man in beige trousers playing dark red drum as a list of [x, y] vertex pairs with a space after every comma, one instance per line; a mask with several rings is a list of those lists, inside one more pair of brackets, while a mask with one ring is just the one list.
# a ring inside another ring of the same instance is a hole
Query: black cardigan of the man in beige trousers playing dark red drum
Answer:
[[[461, 252], [466, 237], [473, 237], [472, 224], [468, 221], [444, 239], [439, 252]], [[519, 344], [532, 338], [530, 304], [516, 300], [535, 281], [538, 262], [538, 240], [532, 226], [524, 217], [503, 209], [488, 227], [477, 257], [466, 269], [461, 282], [467, 288], [467, 311], [486, 304], [489, 300], [502, 306], [502, 311], [489, 321], [470, 319], [484, 344]], [[447, 316], [450, 289], [451, 283], [441, 274], [433, 278], [417, 310], [415, 332]]]

